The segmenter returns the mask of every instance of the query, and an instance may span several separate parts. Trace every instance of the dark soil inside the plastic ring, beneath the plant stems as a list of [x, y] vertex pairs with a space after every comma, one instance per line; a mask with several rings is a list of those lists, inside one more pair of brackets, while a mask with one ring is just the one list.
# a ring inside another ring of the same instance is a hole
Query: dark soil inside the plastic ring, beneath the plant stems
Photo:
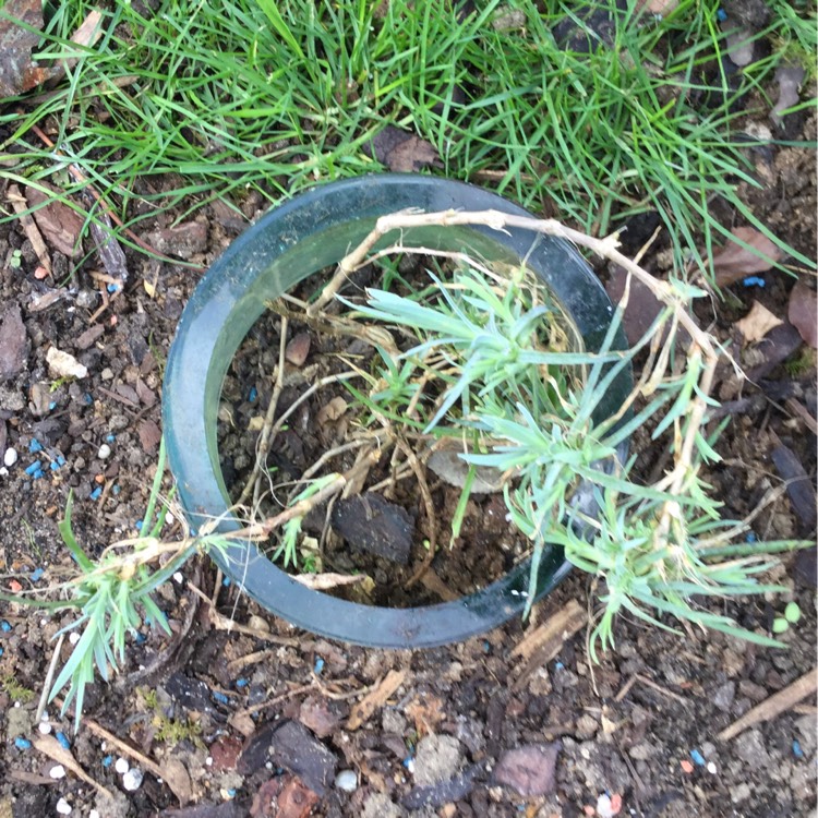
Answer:
[[[434, 264], [433, 260], [428, 260]], [[429, 285], [424, 273], [426, 261], [404, 257], [401, 270], [409, 277], [408, 285], [420, 289]], [[325, 279], [333, 270], [320, 274]], [[406, 280], [406, 279], [405, 279]], [[380, 274], [371, 267], [359, 270], [345, 292], [360, 292], [363, 287], [380, 286]], [[305, 299], [321, 285], [312, 279], [298, 291]], [[400, 289], [408, 289], [401, 286]], [[337, 311], [337, 310], [336, 310]], [[231, 362], [222, 387], [218, 425], [219, 454], [226, 484], [236, 501], [249, 479], [256, 458], [261, 423], [275, 389], [281, 318], [267, 312], [251, 329]], [[401, 338], [401, 349], [418, 342], [417, 338]], [[320, 332], [290, 320], [287, 348], [294, 345], [309, 349], [301, 360], [286, 361], [284, 388], [277, 402], [276, 419], [314, 384], [350, 370], [350, 363], [363, 372], [374, 373], [380, 360], [375, 349], [360, 339]], [[291, 357], [291, 356], [290, 356]], [[364, 394], [370, 390], [362, 377], [350, 383]], [[370, 424], [369, 429], [365, 424]], [[363, 431], [374, 431], [376, 422], [340, 383], [332, 383], [316, 390], [288, 420], [269, 447], [265, 468], [269, 479], [264, 482], [265, 501], [261, 514], [274, 516], [282, 510], [285, 498], [302, 491], [303, 472], [324, 457], [328, 450], [350, 445], [350, 440]], [[414, 444], [413, 444], [414, 445]], [[344, 472], [353, 467], [362, 447], [341, 452], [321, 471]], [[394, 479], [397, 465], [405, 461], [395, 449], [384, 446], [378, 461], [366, 476], [365, 483], [349, 497], [322, 503], [303, 521], [308, 545], [296, 566], [284, 566], [293, 573], [323, 572], [341, 575], [362, 575], [366, 579], [340, 586], [330, 592], [366, 604], [404, 608], [433, 604], [457, 599], [498, 579], [517, 562], [530, 553], [530, 543], [509, 527], [502, 494], [473, 494], [467, 503], [460, 533], [452, 538], [452, 525], [460, 498], [460, 489], [448, 484], [425, 462], [423, 470], [429, 496], [434, 507], [434, 528], [437, 553], [420, 578], [419, 567], [429, 557], [432, 530], [413, 471]], [[405, 470], [406, 471], [406, 470]], [[274, 536], [266, 546], [275, 554], [279, 539]], [[305, 567], [304, 567], [305, 566]], [[413, 581], [412, 581], [413, 580]]]

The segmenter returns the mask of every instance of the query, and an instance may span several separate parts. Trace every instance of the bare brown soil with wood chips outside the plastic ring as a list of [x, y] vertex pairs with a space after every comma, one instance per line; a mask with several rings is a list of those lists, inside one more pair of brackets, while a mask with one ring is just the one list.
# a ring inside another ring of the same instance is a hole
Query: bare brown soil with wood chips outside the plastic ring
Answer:
[[[814, 140], [815, 119], [799, 130]], [[813, 153], [770, 147], [755, 161], [761, 188], [747, 190], [747, 202], [814, 253]], [[260, 208], [246, 202], [248, 219]], [[142, 224], [146, 241], [201, 268], [242, 229], [217, 206], [181, 227], [171, 214]], [[92, 554], [135, 533], [156, 468], [165, 361], [201, 275], [125, 251], [127, 286], [109, 296], [92, 275], [100, 269], [95, 254], [80, 261], [50, 251], [53, 274], [40, 278], [21, 225], [0, 226], [5, 591], [67, 576], [57, 524], [70, 490], [77, 539]], [[661, 273], [665, 256], [657, 245], [646, 264]], [[736, 338], [754, 301], [784, 321], [774, 337], [743, 346], [756, 385], [729, 368], [720, 375], [717, 394], [732, 422], [710, 478], [729, 517], [790, 481], [790, 493], [753, 520], [753, 536], [814, 538], [815, 358], [786, 323], [795, 278], [771, 270], [762, 281], [737, 281], [699, 315], [724, 341]], [[87, 374], [56, 375], [47, 359], [55, 348]], [[228, 386], [248, 400], [240, 384]], [[646, 473], [661, 470], [647, 432], [633, 445]], [[461, 539], [477, 544], [477, 528], [470, 519]], [[171, 520], [165, 533], [179, 530]], [[56, 703], [46, 726], [34, 723], [55, 636], [72, 616], [0, 602], [0, 816], [814, 815], [814, 677], [783, 712], [719, 735], [814, 673], [815, 550], [784, 557], [772, 578], [789, 594], [719, 608], [745, 627], [770, 629], [794, 600], [802, 618], [782, 635], [785, 650], [622, 618], [616, 651], [593, 664], [585, 636], [594, 589], [576, 572], [527, 624], [408, 652], [300, 631], [197, 560], [157, 594], [172, 636], [145, 628], [130, 637], [120, 673], [91, 689], [77, 734]], [[565, 626], [539, 630], [553, 622]], [[65, 639], [62, 662], [70, 650]]]

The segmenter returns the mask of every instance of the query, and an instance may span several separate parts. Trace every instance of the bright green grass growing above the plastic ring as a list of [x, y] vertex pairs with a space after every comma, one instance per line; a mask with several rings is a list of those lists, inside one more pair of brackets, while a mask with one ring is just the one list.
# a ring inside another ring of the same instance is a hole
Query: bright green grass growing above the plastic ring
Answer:
[[596, 234], [655, 209], [679, 263], [707, 258], [726, 234], [714, 197], [767, 232], [735, 192], [754, 183], [738, 100], [753, 91], [769, 107], [763, 92], [784, 58], [805, 59], [815, 75], [808, 11], [777, 0], [758, 38], [779, 50], [729, 76], [717, 0], [682, 0], [664, 19], [599, 0], [615, 24], [609, 39], [589, 33], [589, 53], [553, 36], [566, 14], [584, 26], [577, 3], [474, 5], [168, 0], [142, 13], [115, 2], [84, 48], [69, 37], [95, 4], [53, 3], [38, 57], [76, 62], [24, 116], [3, 109], [12, 133], [0, 159], [13, 155], [10, 176], [67, 196], [80, 187], [64, 172], [76, 163], [134, 227], [157, 208], [184, 219], [214, 199], [240, 203], [257, 190], [275, 202], [382, 170], [364, 148], [394, 123], [429, 140], [446, 176], [490, 177], [508, 197]]

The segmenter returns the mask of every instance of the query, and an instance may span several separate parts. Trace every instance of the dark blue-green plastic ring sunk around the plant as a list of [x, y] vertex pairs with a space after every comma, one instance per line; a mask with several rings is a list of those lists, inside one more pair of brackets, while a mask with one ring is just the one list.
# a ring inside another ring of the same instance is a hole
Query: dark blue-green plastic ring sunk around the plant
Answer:
[[[422, 176], [361, 177], [316, 188], [276, 207], [218, 258], [191, 297], [168, 358], [163, 420], [171, 471], [191, 525], [218, 521], [238, 530], [219, 466], [216, 438], [221, 385], [241, 341], [276, 299], [306, 276], [335, 265], [371, 231], [380, 216], [405, 208], [424, 212], [522, 208], [479, 188]], [[384, 245], [395, 237], [386, 237]], [[488, 262], [522, 260], [550, 288], [584, 340], [596, 351], [613, 309], [593, 272], [567, 242], [530, 231], [488, 227], [432, 227], [405, 231], [406, 246], [467, 251]], [[626, 348], [624, 335], [614, 345]], [[630, 392], [623, 372], [599, 407], [609, 417]], [[509, 524], [512, 525], [512, 524]], [[486, 633], [527, 602], [530, 560], [454, 602], [393, 609], [347, 602], [314, 591], [276, 567], [251, 542], [213, 552], [222, 572], [250, 597], [293, 625], [334, 639], [382, 648], [446, 645]], [[568, 573], [562, 550], [546, 550], [538, 572], [538, 599]]]

